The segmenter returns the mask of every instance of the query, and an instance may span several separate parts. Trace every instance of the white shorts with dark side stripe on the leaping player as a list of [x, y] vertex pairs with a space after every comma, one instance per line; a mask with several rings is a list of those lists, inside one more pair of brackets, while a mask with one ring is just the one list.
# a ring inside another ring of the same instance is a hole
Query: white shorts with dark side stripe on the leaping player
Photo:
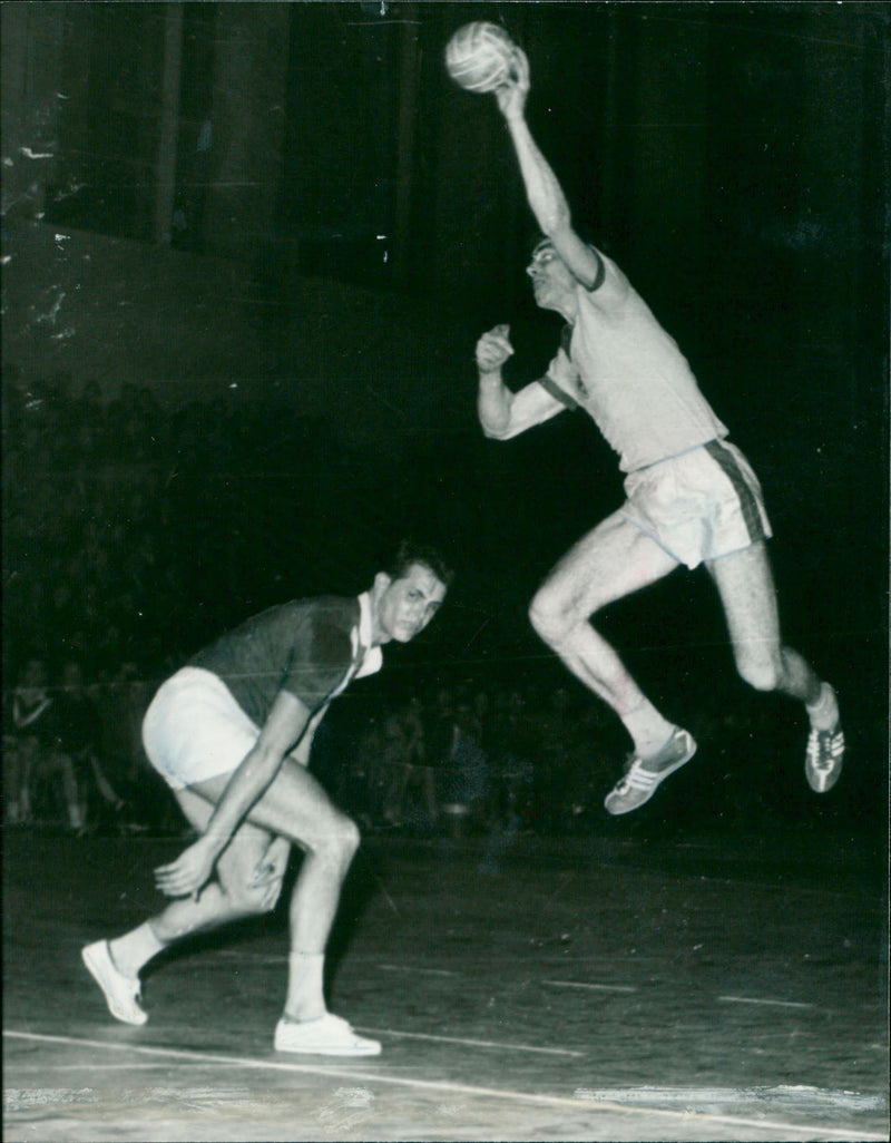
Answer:
[[689, 568], [772, 535], [757, 477], [724, 440], [628, 473], [625, 494], [620, 514]]

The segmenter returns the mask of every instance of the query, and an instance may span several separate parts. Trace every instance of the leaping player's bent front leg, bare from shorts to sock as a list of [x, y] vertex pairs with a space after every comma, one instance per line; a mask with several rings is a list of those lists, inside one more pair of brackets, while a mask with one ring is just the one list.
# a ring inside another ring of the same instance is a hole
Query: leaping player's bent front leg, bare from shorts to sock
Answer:
[[672, 725], [650, 704], [589, 616], [676, 567], [677, 561], [645, 533], [615, 513], [563, 557], [529, 613], [538, 634], [576, 678], [616, 711], [644, 754], [665, 742]]

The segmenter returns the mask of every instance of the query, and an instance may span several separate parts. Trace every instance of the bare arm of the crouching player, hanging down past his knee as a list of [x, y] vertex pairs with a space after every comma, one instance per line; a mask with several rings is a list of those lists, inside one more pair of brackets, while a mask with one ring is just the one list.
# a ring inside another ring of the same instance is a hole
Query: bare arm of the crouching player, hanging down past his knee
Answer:
[[168, 897], [198, 895], [233, 833], [279, 773], [284, 756], [305, 733], [310, 714], [296, 695], [279, 693], [256, 745], [230, 778], [202, 836], [175, 862], [155, 870], [162, 893]]

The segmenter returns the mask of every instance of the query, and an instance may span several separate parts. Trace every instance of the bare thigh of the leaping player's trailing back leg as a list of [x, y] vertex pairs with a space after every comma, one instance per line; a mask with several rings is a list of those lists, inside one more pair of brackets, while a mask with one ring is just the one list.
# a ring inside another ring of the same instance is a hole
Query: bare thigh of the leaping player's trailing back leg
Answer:
[[737, 648], [770, 656], [779, 647], [779, 614], [764, 541], [706, 563]]

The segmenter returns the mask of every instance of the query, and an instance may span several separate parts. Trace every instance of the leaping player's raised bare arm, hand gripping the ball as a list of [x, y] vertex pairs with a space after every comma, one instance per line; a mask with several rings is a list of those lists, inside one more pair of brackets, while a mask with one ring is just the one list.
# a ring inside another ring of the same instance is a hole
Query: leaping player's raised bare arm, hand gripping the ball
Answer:
[[516, 48], [514, 75], [509, 82], [495, 90], [498, 110], [504, 115], [511, 133], [527, 199], [541, 233], [551, 239], [557, 254], [578, 281], [586, 289], [592, 289], [601, 273], [600, 258], [572, 229], [572, 218], [563, 189], [529, 130], [525, 121], [529, 89], [529, 61], [525, 53]]

